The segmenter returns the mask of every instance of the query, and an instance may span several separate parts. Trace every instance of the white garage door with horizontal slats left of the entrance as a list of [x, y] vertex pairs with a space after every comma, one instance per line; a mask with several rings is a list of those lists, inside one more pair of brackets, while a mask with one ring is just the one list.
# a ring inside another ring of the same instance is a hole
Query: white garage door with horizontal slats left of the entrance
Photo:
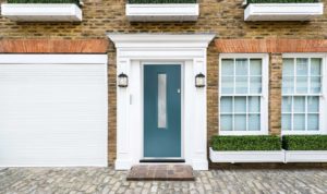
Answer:
[[107, 166], [107, 56], [0, 54], [0, 166]]

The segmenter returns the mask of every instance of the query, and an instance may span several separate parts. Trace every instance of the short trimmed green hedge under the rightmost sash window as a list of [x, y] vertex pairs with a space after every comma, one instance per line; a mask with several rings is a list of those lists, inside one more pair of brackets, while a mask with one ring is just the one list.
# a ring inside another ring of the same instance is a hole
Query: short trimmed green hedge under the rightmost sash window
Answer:
[[327, 150], [327, 135], [284, 135], [282, 148], [286, 150]]

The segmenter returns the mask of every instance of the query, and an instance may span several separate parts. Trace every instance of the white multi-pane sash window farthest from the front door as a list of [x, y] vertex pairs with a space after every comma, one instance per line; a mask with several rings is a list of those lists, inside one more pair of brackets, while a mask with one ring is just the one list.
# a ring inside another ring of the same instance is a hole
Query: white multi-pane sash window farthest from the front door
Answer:
[[283, 134], [323, 132], [323, 57], [284, 54], [281, 107]]

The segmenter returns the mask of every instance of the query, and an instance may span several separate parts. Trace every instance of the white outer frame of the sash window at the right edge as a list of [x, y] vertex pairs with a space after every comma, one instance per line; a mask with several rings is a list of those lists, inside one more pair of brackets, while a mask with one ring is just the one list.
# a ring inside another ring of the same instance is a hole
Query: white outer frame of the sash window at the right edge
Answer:
[[[282, 131], [282, 135], [315, 135], [315, 134], [327, 134], [327, 53], [283, 53], [282, 59], [284, 58], [320, 58], [322, 59], [322, 92], [319, 96], [319, 130], [318, 131]], [[281, 81], [282, 83], [282, 81]], [[282, 95], [282, 92], [281, 92]], [[282, 95], [283, 96], [283, 95]], [[305, 94], [299, 95], [286, 95], [286, 96], [308, 96]], [[280, 117], [282, 119], [282, 114]]]

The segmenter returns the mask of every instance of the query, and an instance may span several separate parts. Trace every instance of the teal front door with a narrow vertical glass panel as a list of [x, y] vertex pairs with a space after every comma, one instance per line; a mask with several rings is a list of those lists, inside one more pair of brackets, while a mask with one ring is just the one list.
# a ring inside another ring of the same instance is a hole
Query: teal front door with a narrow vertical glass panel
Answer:
[[144, 65], [144, 157], [181, 156], [181, 65]]

